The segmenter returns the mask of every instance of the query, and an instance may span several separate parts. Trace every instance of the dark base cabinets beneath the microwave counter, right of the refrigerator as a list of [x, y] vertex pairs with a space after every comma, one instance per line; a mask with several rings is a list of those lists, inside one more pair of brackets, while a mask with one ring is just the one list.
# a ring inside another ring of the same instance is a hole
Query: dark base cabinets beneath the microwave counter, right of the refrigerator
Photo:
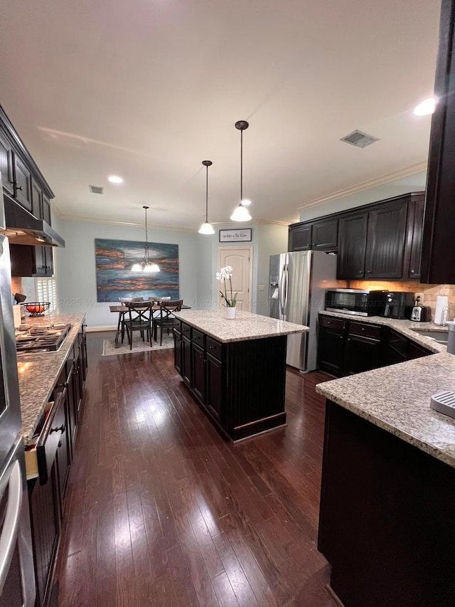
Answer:
[[353, 375], [432, 354], [390, 327], [319, 316], [318, 366], [336, 376]]

